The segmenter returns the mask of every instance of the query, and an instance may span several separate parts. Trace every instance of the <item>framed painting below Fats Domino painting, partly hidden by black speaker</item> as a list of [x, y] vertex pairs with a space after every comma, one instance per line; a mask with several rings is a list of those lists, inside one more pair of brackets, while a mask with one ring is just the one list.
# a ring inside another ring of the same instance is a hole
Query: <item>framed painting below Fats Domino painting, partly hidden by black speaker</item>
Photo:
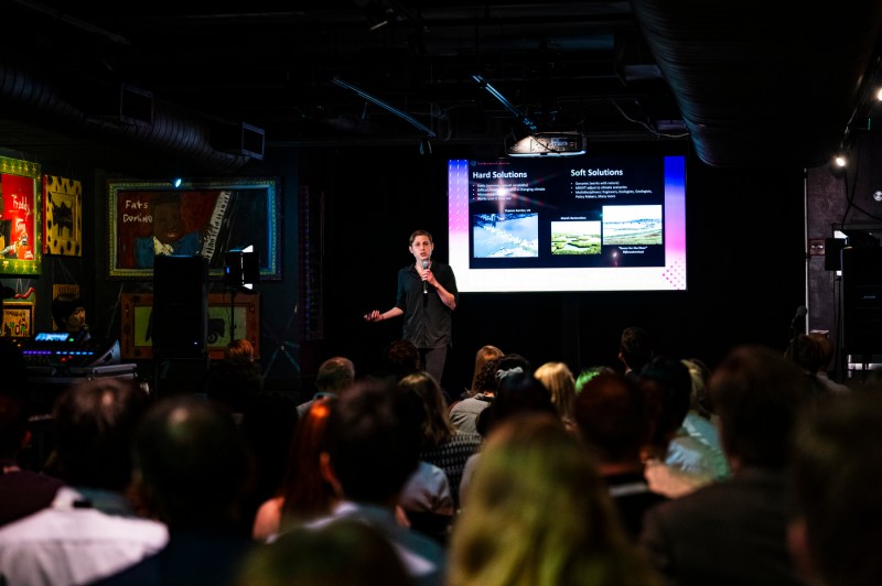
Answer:
[[[227, 344], [245, 338], [255, 347], [255, 358], [260, 357], [260, 295], [208, 294], [208, 356], [223, 360]], [[151, 336], [153, 294], [123, 293], [121, 303], [119, 350], [122, 358], [153, 358]]]

